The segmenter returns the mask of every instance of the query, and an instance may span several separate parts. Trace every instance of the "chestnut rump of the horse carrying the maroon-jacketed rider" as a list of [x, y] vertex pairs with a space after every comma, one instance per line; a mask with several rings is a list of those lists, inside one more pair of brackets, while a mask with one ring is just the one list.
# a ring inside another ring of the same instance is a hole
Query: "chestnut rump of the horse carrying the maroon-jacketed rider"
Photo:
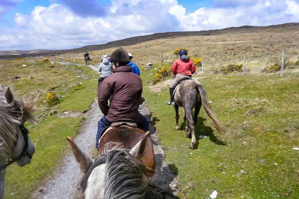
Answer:
[[[104, 146], [107, 143], [110, 143], [107, 150], [115, 147], [116, 145], [121, 145], [120, 147], [125, 149], [132, 149], [145, 135], [145, 132], [140, 128], [132, 127], [116, 127], [109, 130], [108, 133], [101, 137], [99, 143], [99, 155], [103, 154]], [[150, 138], [147, 139], [146, 148], [144, 154], [141, 156], [141, 161], [146, 167], [148, 176], [151, 177], [155, 169], [155, 159], [152, 143]]]

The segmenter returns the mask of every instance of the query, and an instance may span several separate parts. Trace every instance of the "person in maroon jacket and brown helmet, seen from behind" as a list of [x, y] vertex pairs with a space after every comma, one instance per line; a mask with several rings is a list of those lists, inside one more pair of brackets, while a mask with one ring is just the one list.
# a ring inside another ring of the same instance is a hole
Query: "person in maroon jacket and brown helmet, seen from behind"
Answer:
[[[132, 72], [128, 52], [124, 48], [115, 50], [111, 62], [116, 67], [113, 74], [106, 77], [98, 88], [98, 103], [104, 116], [98, 122], [96, 148], [102, 130], [117, 119], [132, 119], [144, 131], [149, 130], [149, 121], [138, 111], [142, 100], [142, 80]], [[113, 99], [108, 106], [108, 99]]]

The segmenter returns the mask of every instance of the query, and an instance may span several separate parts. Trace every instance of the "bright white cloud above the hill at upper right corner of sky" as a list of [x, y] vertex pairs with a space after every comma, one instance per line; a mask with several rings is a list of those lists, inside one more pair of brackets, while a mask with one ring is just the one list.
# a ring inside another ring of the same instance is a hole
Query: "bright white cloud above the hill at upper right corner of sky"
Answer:
[[[224, 0], [221, 3], [224, 3]], [[247, 6], [244, 6], [245, 4]], [[265, 26], [299, 21], [299, 3], [294, 0], [258, 0], [255, 4], [248, 4], [247, 1], [245, 4], [238, 3], [234, 5], [235, 7], [224, 8], [201, 7], [193, 13], [176, 18], [180, 22], [180, 28], [185, 31], [242, 25]]]

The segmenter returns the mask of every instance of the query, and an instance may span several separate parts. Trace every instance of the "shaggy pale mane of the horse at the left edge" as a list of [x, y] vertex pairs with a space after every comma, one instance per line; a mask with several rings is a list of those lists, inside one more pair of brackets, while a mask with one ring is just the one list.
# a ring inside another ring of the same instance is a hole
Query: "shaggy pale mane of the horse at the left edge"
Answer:
[[[5, 90], [0, 89], [0, 157], [5, 159], [11, 157], [11, 149], [17, 139], [18, 130], [16, 130], [16, 125], [25, 120], [35, 122], [35, 117], [32, 115], [34, 100], [14, 99], [12, 103], [8, 104], [4, 93]], [[20, 107], [20, 110], [17, 107]], [[20, 113], [21, 116], [18, 117], [17, 113]]]

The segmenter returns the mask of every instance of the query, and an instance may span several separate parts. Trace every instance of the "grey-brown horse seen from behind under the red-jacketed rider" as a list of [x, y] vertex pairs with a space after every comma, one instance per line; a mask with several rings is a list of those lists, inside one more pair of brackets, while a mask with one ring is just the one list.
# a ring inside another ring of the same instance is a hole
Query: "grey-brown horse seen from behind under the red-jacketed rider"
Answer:
[[[187, 138], [191, 139], [190, 149], [194, 149], [196, 145], [195, 137], [195, 125], [197, 123], [197, 117], [201, 105], [204, 107], [208, 116], [212, 119], [213, 125], [218, 131], [223, 131], [224, 128], [221, 126], [220, 122], [215, 117], [211, 106], [208, 102], [207, 93], [203, 85], [196, 80], [185, 80], [180, 85], [179, 88], [174, 93], [174, 109], [175, 109], [175, 119], [176, 124], [174, 129], [178, 130], [178, 107], [181, 106], [185, 110], [185, 133]], [[195, 108], [194, 108], [195, 107]], [[194, 108], [194, 115], [192, 117], [192, 110]], [[191, 133], [190, 133], [191, 131]]]

